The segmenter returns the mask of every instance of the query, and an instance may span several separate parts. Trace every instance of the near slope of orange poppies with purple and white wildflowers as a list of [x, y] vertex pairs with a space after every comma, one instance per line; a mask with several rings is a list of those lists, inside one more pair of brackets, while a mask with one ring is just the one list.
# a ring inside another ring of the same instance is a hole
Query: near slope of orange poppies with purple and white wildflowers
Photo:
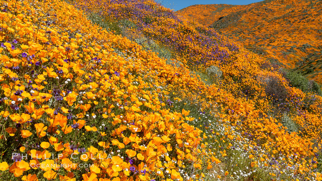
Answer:
[[321, 87], [213, 28], [152, 0], [0, 19], [1, 181], [322, 180]]

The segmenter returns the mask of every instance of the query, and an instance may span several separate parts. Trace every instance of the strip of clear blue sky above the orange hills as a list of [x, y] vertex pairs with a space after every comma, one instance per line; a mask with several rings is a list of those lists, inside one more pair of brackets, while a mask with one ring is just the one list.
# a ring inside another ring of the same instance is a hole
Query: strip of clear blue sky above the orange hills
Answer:
[[263, 0], [157, 0], [162, 5], [174, 9], [175, 11], [190, 5], [228, 4], [228, 5], [248, 5]]

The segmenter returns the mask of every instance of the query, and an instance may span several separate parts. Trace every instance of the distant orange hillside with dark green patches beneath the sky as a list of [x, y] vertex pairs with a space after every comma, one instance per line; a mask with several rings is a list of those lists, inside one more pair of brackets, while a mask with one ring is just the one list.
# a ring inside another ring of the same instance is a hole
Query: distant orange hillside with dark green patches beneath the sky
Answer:
[[250, 5], [193, 5], [178, 11], [322, 82], [322, 1], [265, 0]]

